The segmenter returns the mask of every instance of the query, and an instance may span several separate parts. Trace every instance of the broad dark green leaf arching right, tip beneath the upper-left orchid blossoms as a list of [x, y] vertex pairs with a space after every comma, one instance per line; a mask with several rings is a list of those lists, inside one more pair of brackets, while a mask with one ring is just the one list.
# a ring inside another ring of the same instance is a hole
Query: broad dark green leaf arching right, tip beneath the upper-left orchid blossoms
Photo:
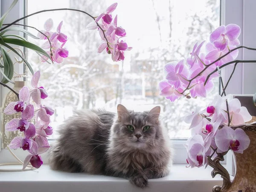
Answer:
[[46, 56], [47, 58], [49, 58], [51, 60], [51, 57], [47, 54], [47, 52], [44, 49], [42, 49], [41, 47], [38, 47], [35, 44], [29, 43], [28, 41], [23, 41], [23, 40], [14, 39], [14, 38], [3, 38], [3, 42], [5, 42], [7, 44], [15, 44], [15, 45], [19, 45], [22, 47], [32, 49], [34, 51], [41, 53], [42, 55]]

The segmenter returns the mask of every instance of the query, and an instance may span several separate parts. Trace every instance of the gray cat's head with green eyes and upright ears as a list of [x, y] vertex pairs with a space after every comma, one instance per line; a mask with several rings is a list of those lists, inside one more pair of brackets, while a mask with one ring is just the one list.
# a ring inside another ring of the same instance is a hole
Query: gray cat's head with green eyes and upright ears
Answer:
[[160, 107], [140, 113], [118, 105], [117, 114], [112, 138], [119, 147], [150, 149], [161, 137], [162, 130], [158, 121]]

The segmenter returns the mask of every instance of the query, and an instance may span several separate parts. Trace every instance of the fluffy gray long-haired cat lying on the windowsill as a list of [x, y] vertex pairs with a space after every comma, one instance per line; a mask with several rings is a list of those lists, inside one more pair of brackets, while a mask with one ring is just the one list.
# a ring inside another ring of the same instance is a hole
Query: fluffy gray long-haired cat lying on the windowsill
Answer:
[[141, 188], [169, 173], [170, 146], [158, 120], [160, 107], [129, 111], [78, 111], [60, 126], [50, 151], [54, 170], [125, 177]]

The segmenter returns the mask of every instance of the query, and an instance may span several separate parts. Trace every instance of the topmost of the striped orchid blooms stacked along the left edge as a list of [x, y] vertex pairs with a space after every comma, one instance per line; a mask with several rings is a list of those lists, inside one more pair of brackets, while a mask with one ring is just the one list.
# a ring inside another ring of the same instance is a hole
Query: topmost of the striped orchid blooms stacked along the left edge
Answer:
[[23, 112], [26, 109], [26, 105], [29, 103], [29, 88], [24, 86], [19, 92], [18, 102], [10, 102], [9, 105], [5, 108], [3, 113], [7, 115], [12, 115], [17, 112]]

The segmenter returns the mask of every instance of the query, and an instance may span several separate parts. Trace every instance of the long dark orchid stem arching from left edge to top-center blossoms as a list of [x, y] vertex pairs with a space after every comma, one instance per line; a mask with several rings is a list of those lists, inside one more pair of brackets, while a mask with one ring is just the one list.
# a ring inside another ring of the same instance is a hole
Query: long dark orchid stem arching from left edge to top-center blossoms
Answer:
[[[41, 10], [41, 11], [39, 11], [39, 12], [35, 12], [35, 13], [32, 13], [32, 14], [26, 15], [26, 16], [24, 16], [24, 17], [21, 17], [21, 18], [19, 18], [19, 19], [15, 20], [15, 21], [13, 21], [13, 22], [12, 22], [12, 23], [10, 23], [10, 24], [7, 24], [5, 27], [3, 27], [2, 29], [0, 29], [0, 31], [3, 31], [4, 29], [8, 28], [9, 26], [12, 26], [13, 24], [15, 24], [15, 23], [19, 22], [20, 20], [26, 19], [27, 17], [30, 17], [30, 16], [32, 16], [32, 15], [36, 15], [36, 14], [43, 13], [43, 12], [63, 11], [63, 10], [65, 10], [65, 11], [69, 10], [69, 11], [81, 12], [81, 13], [84, 13], [84, 14], [88, 15], [88, 16], [89, 16], [89, 17], [91, 17], [93, 20], [95, 20], [95, 18], [96, 18], [96, 17], [93, 17], [92, 15], [90, 15], [89, 13], [84, 12], [84, 11], [81, 11], [81, 10], [79, 10], [79, 9], [69, 9], [69, 8], [61, 8], [61, 9], [45, 9], [45, 10]], [[96, 23], [96, 24], [97, 24], [97, 26], [99, 27], [99, 29], [101, 29], [101, 30], [102, 30], [103, 35], [104, 35], [104, 38], [106, 39], [106, 41], [107, 41], [107, 45], [108, 45], [108, 47], [109, 47], [108, 39], [107, 39], [107, 37], [106, 37], [106, 35], [105, 35], [104, 30], [102, 29], [102, 27], [101, 27], [101, 26], [99, 26], [99, 23]]]

